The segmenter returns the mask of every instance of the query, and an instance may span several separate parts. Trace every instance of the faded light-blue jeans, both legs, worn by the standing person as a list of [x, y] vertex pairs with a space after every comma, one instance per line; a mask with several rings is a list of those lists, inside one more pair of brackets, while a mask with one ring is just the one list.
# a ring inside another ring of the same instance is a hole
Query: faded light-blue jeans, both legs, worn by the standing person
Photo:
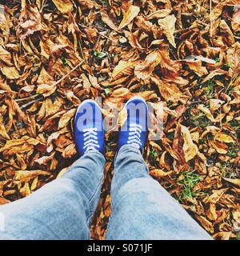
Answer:
[[[107, 239], [211, 239], [150, 177], [139, 150], [122, 146], [114, 164]], [[84, 154], [62, 178], [0, 206], [0, 239], [90, 239], [104, 166], [101, 153]]]

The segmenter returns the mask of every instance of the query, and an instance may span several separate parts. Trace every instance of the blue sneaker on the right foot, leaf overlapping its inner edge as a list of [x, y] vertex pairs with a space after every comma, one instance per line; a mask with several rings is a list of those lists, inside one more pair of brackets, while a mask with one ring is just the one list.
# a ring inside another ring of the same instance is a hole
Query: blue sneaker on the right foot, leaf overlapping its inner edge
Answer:
[[147, 137], [148, 107], [143, 98], [135, 96], [124, 106], [127, 119], [121, 127], [118, 139], [118, 150], [124, 145], [143, 149]]

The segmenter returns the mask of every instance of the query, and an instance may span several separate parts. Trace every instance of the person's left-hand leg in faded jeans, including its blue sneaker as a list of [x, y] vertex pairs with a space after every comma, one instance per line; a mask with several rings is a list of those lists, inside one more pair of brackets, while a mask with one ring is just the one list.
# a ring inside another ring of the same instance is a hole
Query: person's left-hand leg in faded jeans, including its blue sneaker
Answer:
[[[75, 116], [79, 158], [62, 178], [0, 206], [0, 239], [89, 239], [105, 166], [102, 112], [86, 100]], [[3, 228], [2, 228], [3, 227]]]

